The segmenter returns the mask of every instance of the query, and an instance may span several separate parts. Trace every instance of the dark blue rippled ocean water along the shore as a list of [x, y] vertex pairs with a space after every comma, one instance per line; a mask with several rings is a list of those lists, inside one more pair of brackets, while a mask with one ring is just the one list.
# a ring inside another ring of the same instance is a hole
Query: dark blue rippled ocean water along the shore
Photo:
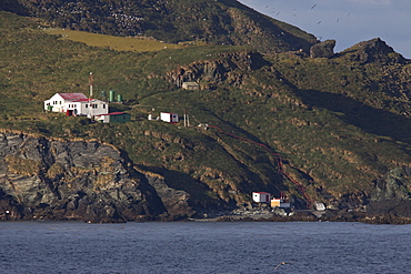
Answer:
[[2, 222], [0, 273], [411, 273], [411, 225]]

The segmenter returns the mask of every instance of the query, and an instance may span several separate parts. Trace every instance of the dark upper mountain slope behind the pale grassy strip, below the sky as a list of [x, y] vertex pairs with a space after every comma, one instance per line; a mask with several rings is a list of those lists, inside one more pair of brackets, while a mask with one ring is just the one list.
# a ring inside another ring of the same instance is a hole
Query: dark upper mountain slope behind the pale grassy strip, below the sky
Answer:
[[[57, 27], [167, 42], [208, 41], [261, 51], [309, 50], [317, 39], [234, 1], [207, 0], [14, 0], [9, 8]], [[4, 9], [4, 8], [3, 8]]]

